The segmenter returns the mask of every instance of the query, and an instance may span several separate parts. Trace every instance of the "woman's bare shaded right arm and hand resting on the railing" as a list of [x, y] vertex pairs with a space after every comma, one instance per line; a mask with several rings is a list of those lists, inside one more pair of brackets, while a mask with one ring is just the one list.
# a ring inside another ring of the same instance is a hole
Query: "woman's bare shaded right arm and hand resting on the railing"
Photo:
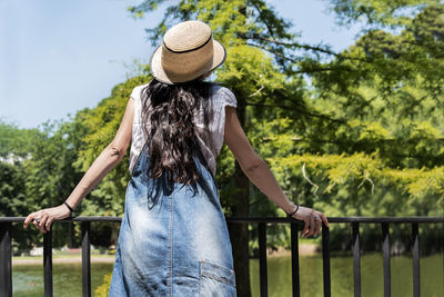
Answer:
[[[286, 214], [291, 214], [294, 210], [293, 202], [290, 201], [283, 192], [268, 164], [251, 147], [250, 141], [239, 122], [235, 109], [231, 106], [225, 107], [224, 141], [233, 152], [246, 177], [270, 200], [282, 208]], [[293, 217], [305, 221], [305, 228], [302, 230], [302, 234], [306, 232], [306, 236], [317, 236], [321, 229], [321, 224], [317, 224], [317, 228], [314, 227], [314, 217], [316, 215], [321, 217], [326, 226], [329, 226], [329, 221], [322, 212], [300, 206]]]

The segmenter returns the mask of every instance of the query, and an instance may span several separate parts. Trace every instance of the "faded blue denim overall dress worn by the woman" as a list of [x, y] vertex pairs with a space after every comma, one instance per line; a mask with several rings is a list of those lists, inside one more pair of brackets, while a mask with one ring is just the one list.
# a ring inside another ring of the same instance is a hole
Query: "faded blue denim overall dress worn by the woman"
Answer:
[[148, 146], [127, 187], [109, 296], [236, 296], [232, 247], [212, 172], [194, 158], [199, 194], [180, 182], [168, 189], [165, 178], [147, 177]]

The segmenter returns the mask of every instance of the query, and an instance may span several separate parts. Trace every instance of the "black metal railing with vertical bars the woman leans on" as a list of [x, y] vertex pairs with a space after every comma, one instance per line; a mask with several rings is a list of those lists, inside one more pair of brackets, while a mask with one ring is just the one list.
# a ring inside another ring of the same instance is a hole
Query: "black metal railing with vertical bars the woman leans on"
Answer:
[[[353, 249], [353, 285], [354, 296], [361, 296], [361, 244], [360, 224], [381, 224], [382, 249], [384, 266], [384, 297], [391, 296], [390, 271], [390, 224], [411, 224], [412, 226], [412, 257], [413, 257], [413, 296], [421, 296], [420, 289], [420, 232], [418, 224], [444, 222], [444, 217], [333, 217], [327, 218], [330, 224], [350, 222], [352, 225]], [[12, 296], [12, 245], [11, 224], [22, 222], [24, 217], [0, 217], [0, 296]], [[91, 296], [91, 221], [121, 221], [121, 217], [75, 217], [63, 221], [79, 221], [82, 229], [82, 295]], [[292, 291], [300, 296], [299, 269], [299, 229], [303, 221], [292, 218], [278, 217], [228, 217], [228, 224], [258, 224], [259, 226], [259, 261], [260, 261], [260, 291], [261, 297], [268, 296], [266, 273], [266, 226], [268, 224], [291, 224], [291, 261], [292, 261]], [[324, 296], [331, 296], [330, 276], [330, 230], [323, 224], [322, 228], [322, 260]], [[52, 231], [43, 234], [43, 271], [44, 296], [52, 296]]]

